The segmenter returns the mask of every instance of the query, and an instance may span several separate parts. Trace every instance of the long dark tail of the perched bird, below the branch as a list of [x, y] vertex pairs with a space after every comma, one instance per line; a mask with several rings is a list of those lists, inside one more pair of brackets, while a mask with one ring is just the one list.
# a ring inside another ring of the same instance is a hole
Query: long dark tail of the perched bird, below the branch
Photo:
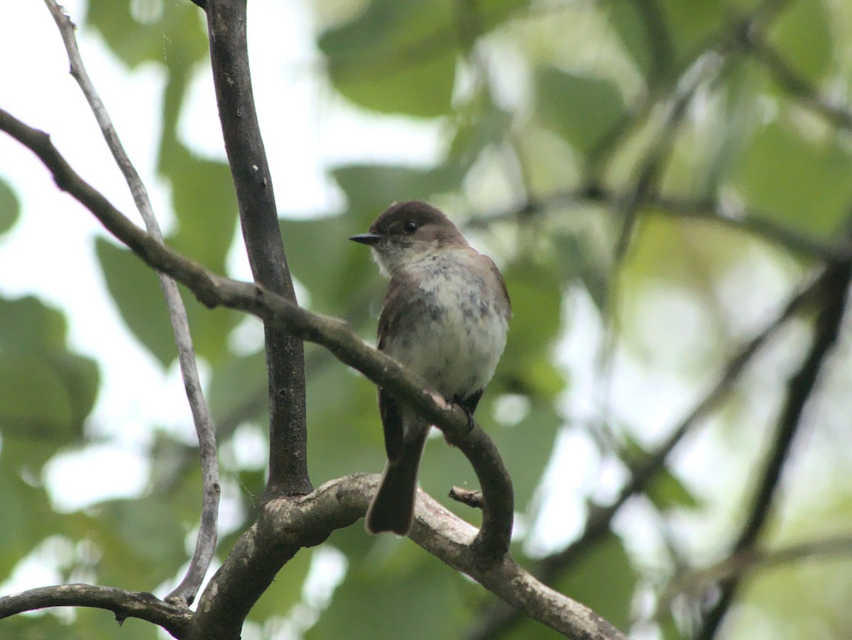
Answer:
[[423, 454], [423, 444], [429, 428], [423, 429], [405, 443], [398, 460], [388, 460], [376, 495], [367, 508], [367, 533], [392, 531], [408, 535], [414, 520], [414, 501], [417, 498], [417, 468]]

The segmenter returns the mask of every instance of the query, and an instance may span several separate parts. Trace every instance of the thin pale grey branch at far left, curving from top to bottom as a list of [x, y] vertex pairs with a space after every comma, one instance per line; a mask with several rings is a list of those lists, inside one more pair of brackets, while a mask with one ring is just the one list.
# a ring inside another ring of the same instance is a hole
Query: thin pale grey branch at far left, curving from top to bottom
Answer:
[[[127, 185], [130, 187], [136, 209], [139, 210], [148, 233], [156, 241], [162, 243], [163, 234], [160, 232], [157, 218], [154, 216], [147, 189], [133, 163], [130, 162], [127, 152], [124, 151], [121, 140], [118, 140], [118, 133], [112, 126], [112, 120], [107, 113], [107, 108], [101, 101], [100, 96], [95, 90], [95, 85], [89, 78], [85, 66], [83, 66], [83, 60], [77, 46], [77, 39], [74, 36], [75, 26], [71, 19], [63, 13], [60, 6], [55, 3], [55, 0], [44, 0], [44, 2], [48, 6], [50, 14], [53, 15], [56, 26], [59, 27], [62, 41], [65, 43], [68, 60], [71, 64], [71, 75], [77, 80], [80, 89], [83, 90], [83, 94], [89, 102], [92, 112], [95, 114], [95, 119], [101, 127], [101, 133], [104, 139], [107, 140], [107, 146], [109, 146], [110, 151], [112, 151], [112, 157], [115, 158], [118, 168], [124, 174], [124, 180], [127, 181]], [[181, 292], [177, 289], [175, 281], [170, 277], [163, 273], [158, 273], [158, 277], [160, 288], [163, 289], [165, 296], [166, 306], [169, 308], [171, 328], [175, 335], [175, 344], [177, 346], [178, 362], [181, 365], [183, 386], [187, 390], [187, 400], [193, 414], [195, 432], [199, 437], [201, 476], [204, 486], [199, 534], [195, 542], [193, 559], [189, 563], [189, 569], [187, 569], [187, 574], [181, 580], [181, 584], [166, 598], [171, 603], [188, 605], [193, 602], [196, 594], [198, 594], [199, 587], [204, 581], [204, 576], [207, 574], [207, 569], [210, 568], [210, 560], [213, 559], [213, 553], [216, 551], [216, 528], [219, 519], [220, 496], [219, 465], [216, 456], [216, 427], [213, 425], [210, 409], [204, 400], [204, 390], [201, 386], [199, 369], [195, 361], [193, 338], [189, 331], [187, 308], [183, 305], [183, 300], [181, 300]]]

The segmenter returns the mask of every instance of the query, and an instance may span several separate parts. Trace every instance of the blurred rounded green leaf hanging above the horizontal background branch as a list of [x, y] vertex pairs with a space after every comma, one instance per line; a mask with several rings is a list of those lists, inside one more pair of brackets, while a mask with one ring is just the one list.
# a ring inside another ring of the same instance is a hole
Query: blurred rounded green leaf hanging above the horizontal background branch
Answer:
[[627, 112], [612, 83], [552, 66], [539, 69], [536, 90], [542, 122], [583, 155], [612, 133]]

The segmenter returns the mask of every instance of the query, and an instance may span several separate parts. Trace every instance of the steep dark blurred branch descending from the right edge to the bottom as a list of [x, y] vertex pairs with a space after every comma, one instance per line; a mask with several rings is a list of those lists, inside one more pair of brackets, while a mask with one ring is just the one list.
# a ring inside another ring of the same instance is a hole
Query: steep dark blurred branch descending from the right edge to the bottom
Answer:
[[[852, 280], [852, 263], [849, 260], [831, 265], [826, 270], [826, 280], [820, 294], [823, 307], [814, 323], [814, 339], [810, 351], [802, 366], [787, 384], [784, 408], [778, 420], [778, 429], [774, 435], [772, 447], [763, 470], [763, 477], [751, 499], [751, 508], [746, 524], [734, 543], [732, 555], [737, 555], [755, 546], [769, 519], [778, 494], [781, 473], [784, 470], [790, 449], [799, 427], [802, 425], [803, 411], [813, 395], [826, 362], [838, 339], [843, 311]], [[719, 584], [720, 594], [717, 603], [705, 615], [703, 624], [696, 635], [698, 640], [710, 640], [722, 623], [722, 619], [734, 602], [740, 586], [740, 575], [734, 575]]]

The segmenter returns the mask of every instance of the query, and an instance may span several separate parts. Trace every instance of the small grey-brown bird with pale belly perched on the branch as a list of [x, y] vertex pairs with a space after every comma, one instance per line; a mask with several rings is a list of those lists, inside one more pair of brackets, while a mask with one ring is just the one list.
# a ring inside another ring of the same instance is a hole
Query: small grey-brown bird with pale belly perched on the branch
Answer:
[[[379, 351], [419, 374], [473, 420], [506, 346], [511, 316], [497, 266], [439, 209], [417, 200], [392, 204], [369, 233], [349, 239], [370, 247], [390, 278], [378, 320]], [[367, 509], [366, 530], [407, 535], [430, 425], [382, 387], [378, 406], [388, 464]]]

